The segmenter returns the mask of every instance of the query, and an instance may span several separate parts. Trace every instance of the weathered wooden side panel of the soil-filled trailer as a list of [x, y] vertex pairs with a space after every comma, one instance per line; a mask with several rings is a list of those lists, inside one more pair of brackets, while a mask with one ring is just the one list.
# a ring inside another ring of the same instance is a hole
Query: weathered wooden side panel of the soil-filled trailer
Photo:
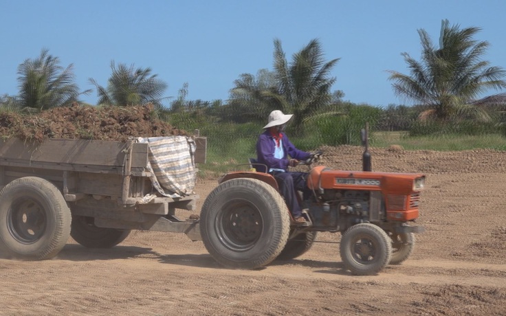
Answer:
[[[205, 152], [206, 142], [199, 142], [197, 148]], [[56, 184], [67, 201], [90, 194], [136, 203], [153, 192], [148, 152], [148, 144], [133, 140], [0, 140], [0, 188], [14, 179], [32, 176]]]

